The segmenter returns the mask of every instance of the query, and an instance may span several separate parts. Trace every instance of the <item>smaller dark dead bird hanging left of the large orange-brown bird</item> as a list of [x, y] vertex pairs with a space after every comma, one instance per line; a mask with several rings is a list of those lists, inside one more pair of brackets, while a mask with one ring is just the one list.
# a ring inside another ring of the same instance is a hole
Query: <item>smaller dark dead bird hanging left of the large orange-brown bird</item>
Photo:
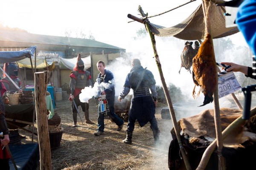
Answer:
[[[193, 42], [186, 42], [185, 47], [180, 55], [181, 65], [180, 70], [184, 67], [191, 74], [190, 68], [192, 66], [192, 59], [195, 57], [195, 50], [192, 48]], [[179, 71], [180, 74], [180, 71]]]

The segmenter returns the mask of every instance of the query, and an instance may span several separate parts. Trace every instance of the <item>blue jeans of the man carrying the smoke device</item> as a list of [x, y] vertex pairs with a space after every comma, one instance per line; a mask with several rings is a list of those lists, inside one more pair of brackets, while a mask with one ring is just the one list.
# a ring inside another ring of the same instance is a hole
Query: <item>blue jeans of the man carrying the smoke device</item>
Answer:
[[[124, 123], [124, 121], [116, 115], [115, 109], [114, 109], [114, 102], [115, 102], [115, 99], [108, 99], [108, 108], [109, 108], [108, 116], [113, 120], [113, 122], [116, 123], [117, 126], [120, 126]], [[98, 131], [104, 132], [104, 128], [105, 128], [104, 113], [102, 114], [102, 113], [99, 112]]]

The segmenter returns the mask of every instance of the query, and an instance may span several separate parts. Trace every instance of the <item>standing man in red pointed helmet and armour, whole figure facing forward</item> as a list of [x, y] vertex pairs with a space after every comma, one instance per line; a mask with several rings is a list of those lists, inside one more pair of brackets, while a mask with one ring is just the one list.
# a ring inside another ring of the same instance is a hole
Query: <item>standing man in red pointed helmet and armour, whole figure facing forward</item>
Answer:
[[[71, 74], [70, 74], [70, 88], [71, 88], [70, 101], [74, 100], [77, 107], [79, 105], [81, 106], [82, 111], [84, 112], [84, 115], [85, 115], [85, 120], [86, 120], [85, 123], [94, 124], [89, 119], [89, 104], [86, 102], [81, 102], [79, 99], [79, 94], [81, 94], [81, 90], [89, 86], [93, 86], [90, 72], [84, 70], [84, 62], [81, 59], [81, 54], [78, 54], [76, 65], [74, 67], [74, 70], [71, 71]], [[77, 123], [76, 106], [72, 102], [72, 113], [73, 113], [73, 120], [74, 120], [72, 127], [76, 127], [76, 123]]]

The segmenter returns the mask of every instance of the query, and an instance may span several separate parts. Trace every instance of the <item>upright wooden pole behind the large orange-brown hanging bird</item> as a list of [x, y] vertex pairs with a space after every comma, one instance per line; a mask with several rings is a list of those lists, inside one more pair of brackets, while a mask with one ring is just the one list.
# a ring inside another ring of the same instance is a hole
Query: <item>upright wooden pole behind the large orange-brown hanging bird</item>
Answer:
[[[210, 23], [209, 23], [209, 6], [210, 2], [207, 2], [206, 0], [202, 0], [202, 9], [204, 12], [204, 23], [205, 23], [205, 34], [210, 34]], [[211, 38], [211, 44], [212, 44], [212, 50], [213, 48], [213, 42]], [[214, 52], [213, 52], [214, 54]], [[213, 56], [215, 60], [215, 56]], [[216, 61], [215, 61], [216, 62]], [[218, 66], [216, 65], [216, 68]], [[213, 73], [213, 74], [217, 74]], [[215, 131], [216, 131], [216, 139], [217, 139], [217, 155], [218, 155], [218, 169], [219, 170], [225, 170], [225, 159], [222, 156], [221, 150], [223, 148], [223, 139], [222, 139], [222, 130], [221, 130], [221, 117], [220, 117], [220, 108], [219, 108], [219, 102], [218, 102], [218, 76], [216, 76], [217, 84], [215, 87], [215, 91], [213, 94], [213, 104], [214, 104], [214, 122], [215, 122]]]

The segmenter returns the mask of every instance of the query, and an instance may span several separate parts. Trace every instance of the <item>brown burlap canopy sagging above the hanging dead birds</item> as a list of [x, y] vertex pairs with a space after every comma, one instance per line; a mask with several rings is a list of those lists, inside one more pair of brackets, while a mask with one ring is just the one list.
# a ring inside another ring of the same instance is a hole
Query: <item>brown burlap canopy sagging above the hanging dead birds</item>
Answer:
[[[239, 32], [237, 27], [226, 28], [225, 26], [225, 7], [215, 6], [214, 3], [210, 3], [209, 8], [209, 23], [211, 23], [211, 35], [212, 38], [226, 37]], [[176, 37], [182, 40], [202, 40], [204, 39], [204, 12], [202, 5], [183, 22], [166, 28], [149, 23], [151, 31], [154, 35], [159, 37]]]

